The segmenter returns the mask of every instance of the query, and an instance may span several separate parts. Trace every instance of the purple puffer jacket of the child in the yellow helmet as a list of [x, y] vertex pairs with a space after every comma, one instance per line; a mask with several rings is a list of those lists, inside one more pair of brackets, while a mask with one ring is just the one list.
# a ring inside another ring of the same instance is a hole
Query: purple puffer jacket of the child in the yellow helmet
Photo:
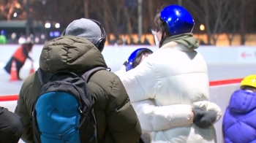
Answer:
[[256, 142], [256, 93], [236, 90], [222, 122], [225, 143]]

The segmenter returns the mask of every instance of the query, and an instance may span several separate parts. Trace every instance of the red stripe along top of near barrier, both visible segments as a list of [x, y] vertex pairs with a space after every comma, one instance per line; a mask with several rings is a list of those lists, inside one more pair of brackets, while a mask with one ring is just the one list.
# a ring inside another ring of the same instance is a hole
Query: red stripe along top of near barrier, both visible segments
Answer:
[[[210, 86], [217, 85], [229, 85], [234, 83], [240, 83], [243, 79], [232, 79], [232, 80], [217, 80], [209, 82]], [[0, 101], [17, 101], [18, 95], [0, 96]]]

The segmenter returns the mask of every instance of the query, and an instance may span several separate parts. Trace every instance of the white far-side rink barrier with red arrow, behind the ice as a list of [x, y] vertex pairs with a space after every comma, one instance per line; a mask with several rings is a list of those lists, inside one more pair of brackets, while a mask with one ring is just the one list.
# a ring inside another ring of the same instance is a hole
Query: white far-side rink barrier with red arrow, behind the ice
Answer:
[[[1, 57], [0, 62], [6, 62], [19, 45], [0, 45]], [[34, 61], [39, 61], [39, 55], [43, 45], [34, 45], [31, 58]], [[127, 60], [129, 55], [140, 47], [147, 47], [153, 51], [157, 50], [156, 46], [151, 45], [129, 45], [129, 46], [105, 46], [102, 54], [108, 66], [122, 65]], [[200, 46], [197, 51], [203, 55], [208, 64], [237, 64], [237, 63], [255, 63], [256, 61], [256, 46]], [[111, 64], [110, 64], [111, 63]]]

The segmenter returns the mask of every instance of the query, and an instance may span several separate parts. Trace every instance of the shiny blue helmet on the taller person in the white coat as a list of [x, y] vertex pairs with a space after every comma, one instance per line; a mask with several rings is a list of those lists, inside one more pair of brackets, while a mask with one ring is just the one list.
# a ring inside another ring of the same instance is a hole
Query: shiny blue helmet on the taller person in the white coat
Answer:
[[195, 25], [187, 9], [178, 5], [170, 5], [162, 9], [160, 18], [167, 23], [172, 35], [189, 33]]

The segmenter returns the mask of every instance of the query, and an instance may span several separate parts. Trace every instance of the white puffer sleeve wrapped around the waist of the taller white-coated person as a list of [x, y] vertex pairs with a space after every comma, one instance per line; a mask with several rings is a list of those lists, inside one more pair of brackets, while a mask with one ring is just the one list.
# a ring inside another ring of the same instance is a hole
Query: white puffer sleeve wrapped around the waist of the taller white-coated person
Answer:
[[162, 131], [177, 126], [190, 125], [192, 106], [176, 104], [156, 107], [152, 100], [132, 103], [143, 131]]

